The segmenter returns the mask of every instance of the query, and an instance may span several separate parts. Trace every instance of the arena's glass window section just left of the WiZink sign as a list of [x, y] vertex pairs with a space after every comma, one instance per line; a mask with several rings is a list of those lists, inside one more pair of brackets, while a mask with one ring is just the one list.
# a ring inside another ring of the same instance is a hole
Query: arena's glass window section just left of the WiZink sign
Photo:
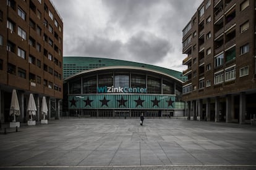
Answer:
[[83, 78], [83, 94], [95, 94], [97, 92], [96, 76]]

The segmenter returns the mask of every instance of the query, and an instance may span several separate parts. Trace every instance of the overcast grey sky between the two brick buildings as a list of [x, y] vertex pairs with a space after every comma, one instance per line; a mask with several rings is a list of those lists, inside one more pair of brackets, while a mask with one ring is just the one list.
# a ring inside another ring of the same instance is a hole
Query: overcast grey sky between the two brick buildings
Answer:
[[103, 57], [185, 70], [182, 29], [202, 0], [53, 0], [64, 56]]

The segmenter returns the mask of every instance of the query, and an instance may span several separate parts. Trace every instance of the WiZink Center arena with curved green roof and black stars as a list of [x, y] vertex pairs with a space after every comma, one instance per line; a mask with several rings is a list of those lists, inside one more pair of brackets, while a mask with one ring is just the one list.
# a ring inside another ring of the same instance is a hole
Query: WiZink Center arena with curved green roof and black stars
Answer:
[[69, 116], [184, 116], [179, 71], [93, 57], [64, 57], [63, 111]]

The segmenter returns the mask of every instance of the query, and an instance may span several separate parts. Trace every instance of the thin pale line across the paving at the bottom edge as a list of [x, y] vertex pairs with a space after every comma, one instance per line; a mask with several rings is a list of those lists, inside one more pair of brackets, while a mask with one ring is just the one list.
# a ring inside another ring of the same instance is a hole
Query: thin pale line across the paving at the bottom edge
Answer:
[[256, 164], [170, 164], [170, 165], [124, 165], [124, 166], [0, 166], [0, 168], [132, 168], [132, 167], [179, 167], [179, 166], [226, 166], [226, 167], [256, 167]]

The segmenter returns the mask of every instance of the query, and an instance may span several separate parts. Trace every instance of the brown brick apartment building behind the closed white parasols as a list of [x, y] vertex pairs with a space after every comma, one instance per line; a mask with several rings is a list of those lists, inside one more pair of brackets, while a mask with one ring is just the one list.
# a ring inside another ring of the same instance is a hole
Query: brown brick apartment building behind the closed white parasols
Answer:
[[[62, 99], [63, 23], [49, 0], [0, 1], [0, 121], [9, 122], [12, 89], [20, 104], [18, 121], [28, 119], [29, 94], [34, 94], [41, 116], [46, 96], [49, 115], [58, 118]], [[53, 105], [54, 103], [54, 105]], [[48, 119], [51, 117], [48, 116]]]

